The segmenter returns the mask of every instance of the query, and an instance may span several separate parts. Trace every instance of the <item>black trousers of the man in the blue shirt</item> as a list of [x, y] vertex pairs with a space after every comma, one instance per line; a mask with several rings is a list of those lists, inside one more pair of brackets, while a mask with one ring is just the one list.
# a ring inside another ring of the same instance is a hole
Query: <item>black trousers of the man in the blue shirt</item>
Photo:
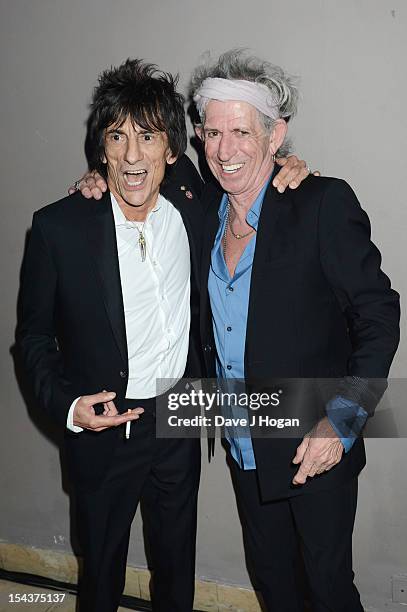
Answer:
[[255, 470], [228, 454], [245, 550], [268, 612], [303, 612], [302, 552], [312, 612], [363, 612], [353, 584], [357, 479], [317, 494], [264, 503]]

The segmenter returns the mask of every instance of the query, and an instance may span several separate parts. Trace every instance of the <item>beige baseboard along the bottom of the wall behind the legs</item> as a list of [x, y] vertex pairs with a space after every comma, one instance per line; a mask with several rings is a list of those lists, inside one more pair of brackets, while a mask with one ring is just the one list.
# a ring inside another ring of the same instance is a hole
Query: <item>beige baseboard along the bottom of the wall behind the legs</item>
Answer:
[[[42, 576], [50, 580], [77, 584], [78, 558], [71, 553], [0, 542], [0, 568], [8, 572]], [[127, 567], [125, 595], [150, 600], [150, 572]], [[202, 612], [261, 612], [256, 594], [209, 580], [196, 580], [194, 608]]]

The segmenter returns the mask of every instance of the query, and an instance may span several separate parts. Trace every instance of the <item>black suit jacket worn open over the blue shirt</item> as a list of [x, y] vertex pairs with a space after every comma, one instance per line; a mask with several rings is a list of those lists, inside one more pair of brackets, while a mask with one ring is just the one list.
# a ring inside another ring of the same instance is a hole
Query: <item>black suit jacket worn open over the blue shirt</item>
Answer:
[[[216, 187], [205, 189], [201, 335], [210, 377], [215, 376], [215, 345], [204, 287], [220, 198]], [[380, 263], [368, 217], [344, 181], [310, 176], [284, 194], [270, 184], [251, 277], [246, 380], [343, 377], [338, 391], [371, 412], [384, 391], [383, 378], [399, 340], [399, 296]], [[358, 439], [335, 468], [294, 487], [298, 466], [291, 461], [298, 443], [253, 439], [265, 500], [336, 486], [365, 463], [363, 440]]]

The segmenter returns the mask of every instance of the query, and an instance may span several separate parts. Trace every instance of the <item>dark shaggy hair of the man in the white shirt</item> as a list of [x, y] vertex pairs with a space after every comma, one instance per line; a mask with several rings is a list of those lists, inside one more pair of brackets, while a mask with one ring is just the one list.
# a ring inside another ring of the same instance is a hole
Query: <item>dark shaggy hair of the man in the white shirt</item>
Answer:
[[165, 132], [172, 155], [179, 158], [187, 147], [184, 97], [177, 92], [178, 76], [140, 59], [127, 59], [105, 70], [95, 87], [87, 121], [85, 152], [90, 170], [106, 177], [103, 164], [104, 135], [110, 125], [127, 117], [144, 130]]

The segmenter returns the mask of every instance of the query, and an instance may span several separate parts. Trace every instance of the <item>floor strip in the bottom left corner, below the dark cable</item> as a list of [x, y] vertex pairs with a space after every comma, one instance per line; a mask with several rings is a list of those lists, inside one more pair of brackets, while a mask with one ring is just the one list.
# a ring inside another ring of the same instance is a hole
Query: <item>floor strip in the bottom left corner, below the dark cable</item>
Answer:
[[[11, 594], [59, 593], [48, 589], [26, 586], [15, 582], [0, 580], [0, 612], [75, 612], [74, 595], [67, 594], [63, 603], [10, 603]], [[119, 608], [119, 612], [128, 612], [129, 608]]]

